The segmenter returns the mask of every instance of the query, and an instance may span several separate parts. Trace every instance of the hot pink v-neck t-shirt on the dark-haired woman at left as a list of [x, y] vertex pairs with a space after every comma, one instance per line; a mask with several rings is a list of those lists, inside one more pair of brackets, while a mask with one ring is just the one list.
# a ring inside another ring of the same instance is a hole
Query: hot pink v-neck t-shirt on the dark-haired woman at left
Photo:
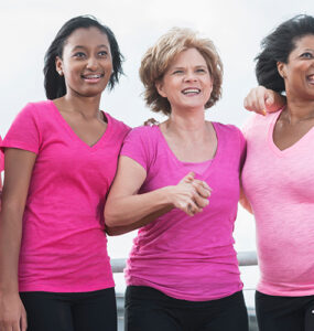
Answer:
[[115, 286], [102, 215], [129, 128], [106, 117], [106, 132], [89, 147], [53, 102], [28, 104], [3, 140], [3, 147], [36, 153], [23, 215], [20, 291]]

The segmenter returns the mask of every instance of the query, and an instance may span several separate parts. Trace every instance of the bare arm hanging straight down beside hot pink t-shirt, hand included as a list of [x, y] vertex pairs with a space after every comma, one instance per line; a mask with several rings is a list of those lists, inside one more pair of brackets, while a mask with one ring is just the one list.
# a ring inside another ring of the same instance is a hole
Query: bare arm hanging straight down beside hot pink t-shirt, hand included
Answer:
[[6, 150], [0, 216], [0, 330], [26, 330], [26, 313], [19, 296], [18, 265], [22, 216], [36, 154]]

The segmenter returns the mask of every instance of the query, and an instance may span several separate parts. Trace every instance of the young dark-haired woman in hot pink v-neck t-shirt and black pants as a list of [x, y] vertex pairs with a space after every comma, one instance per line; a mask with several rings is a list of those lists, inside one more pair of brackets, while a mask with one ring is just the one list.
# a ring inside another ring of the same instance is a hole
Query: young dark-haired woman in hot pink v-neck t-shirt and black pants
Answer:
[[117, 329], [102, 210], [129, 128], [99, 104], [121, 61], [109, 28], [66, 22], [45, 56], [48, 99], [28, 104], [2, 142], [1, 331]]

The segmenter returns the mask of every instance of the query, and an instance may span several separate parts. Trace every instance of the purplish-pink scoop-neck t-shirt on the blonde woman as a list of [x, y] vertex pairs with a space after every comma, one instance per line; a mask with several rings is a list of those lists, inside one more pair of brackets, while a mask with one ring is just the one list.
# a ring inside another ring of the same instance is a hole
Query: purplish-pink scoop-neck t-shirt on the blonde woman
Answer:
[[[128, 285], [149, 286], [190, 301], [218, 299], [241, 290], [232, 231], [245, 140], [234, 126], [215, 122], [214, 127], [216, 156], [196, 172], [196, 178], [213, 189], [209, 205], [193, 217], [174, 209], [142, 227], [127, 265]], [[140, 193], [175, 185], [191, 171], [174, 156], [158, 126], [133, 129], [121, 154], [147, 171]]]

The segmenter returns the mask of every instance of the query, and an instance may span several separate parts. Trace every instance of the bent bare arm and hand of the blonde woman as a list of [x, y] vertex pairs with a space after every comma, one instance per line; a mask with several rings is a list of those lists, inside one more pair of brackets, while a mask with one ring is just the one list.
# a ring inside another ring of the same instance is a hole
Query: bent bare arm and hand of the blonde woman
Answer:
[[120, 157], [105, 207], [109, 234], [118, 234], [119, 227], [120, 233], [124, 233], [143, 226], [173, 207], [193, 216], [208, 204], [210, 189], [206, 183], [194, 180], [192, 173], [177, 185], [138, 194], [145, 178], [147, 172], [139, 163], [128, 157]]

